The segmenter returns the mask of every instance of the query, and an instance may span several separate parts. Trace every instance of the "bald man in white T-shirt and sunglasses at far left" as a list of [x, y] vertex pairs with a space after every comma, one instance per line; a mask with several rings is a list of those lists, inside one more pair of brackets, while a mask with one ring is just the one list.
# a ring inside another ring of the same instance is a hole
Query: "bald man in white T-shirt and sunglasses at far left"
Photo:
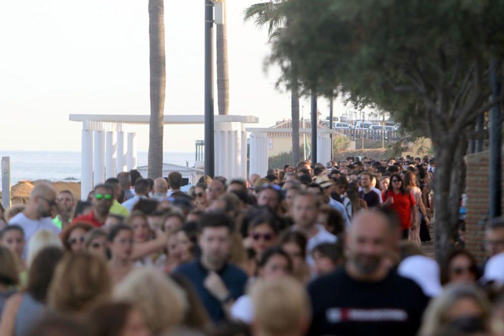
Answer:
[[50, 230], [56, 234], [61, 231], [51, 218], [52, 210], [56, 208], [56, 190], [47, 182], [37, 182], [30, 194], [30, 200], [22, 213], [9, 221], [9, 225], [17, 224], [25, 232], [25, 249], [22, 257], [26, 258], [30, 238], [40, 230]]

